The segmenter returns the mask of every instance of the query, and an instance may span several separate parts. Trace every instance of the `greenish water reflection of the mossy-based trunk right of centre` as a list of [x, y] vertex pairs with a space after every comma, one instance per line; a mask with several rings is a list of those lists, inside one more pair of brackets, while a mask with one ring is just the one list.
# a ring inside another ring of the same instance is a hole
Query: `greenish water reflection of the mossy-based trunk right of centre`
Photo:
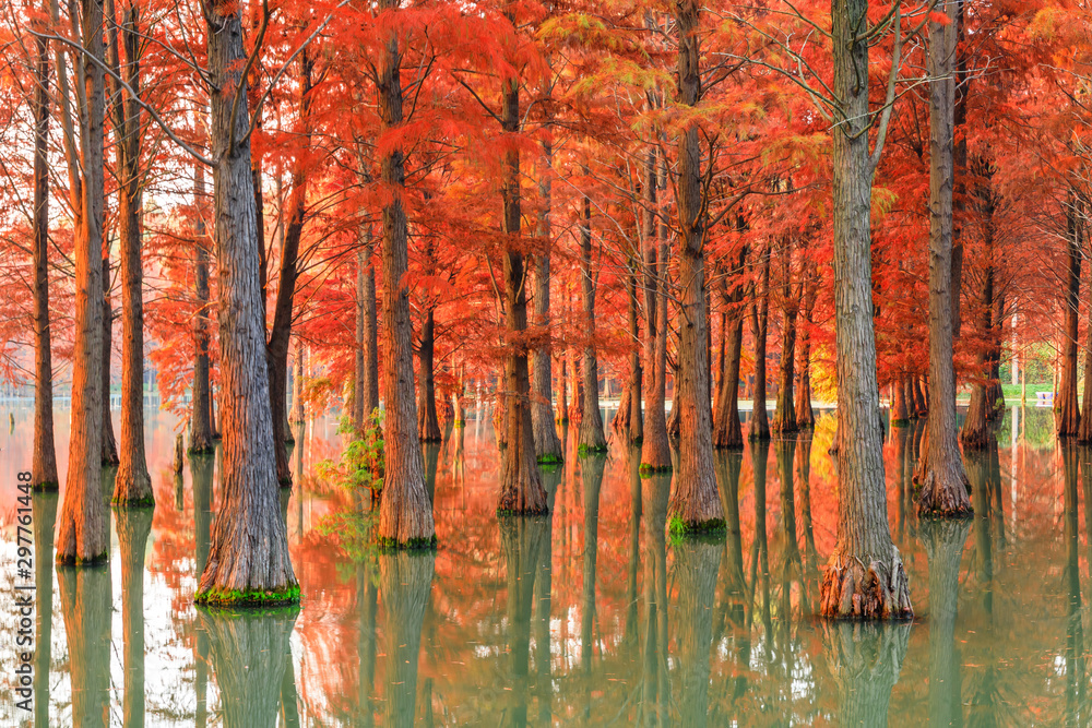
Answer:
[[713, 645], [713, 609], [720, 544], [688, 540], [674, 547], [679, 588], [678, 663], [681, 694], [679, 718], [700, 728], [709, 716], [710, 651]]

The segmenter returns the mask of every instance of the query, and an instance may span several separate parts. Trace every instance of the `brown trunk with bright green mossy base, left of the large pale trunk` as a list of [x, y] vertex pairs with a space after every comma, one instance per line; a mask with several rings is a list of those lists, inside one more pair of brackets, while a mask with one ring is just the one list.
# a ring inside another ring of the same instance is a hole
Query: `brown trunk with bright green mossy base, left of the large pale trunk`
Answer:
[[[698, 104], [698, 3], [680, 0], [678, 23], [678, 92], [686, 106]], [[724, 511], [713, 473], [713, 422], [710, 411], [709, 358], [705, 339], [705, 219], [701, 190], [698, 128], [678, 140], [678, 218], [682, 223], [679, 259], [680, 315], [678, 371], [673, 409], [679, 417], [679, 467], [672, 488], [669, 515], [686, 533], [724, 528]], [[663, 319], [666, 323], [666, 317]]]

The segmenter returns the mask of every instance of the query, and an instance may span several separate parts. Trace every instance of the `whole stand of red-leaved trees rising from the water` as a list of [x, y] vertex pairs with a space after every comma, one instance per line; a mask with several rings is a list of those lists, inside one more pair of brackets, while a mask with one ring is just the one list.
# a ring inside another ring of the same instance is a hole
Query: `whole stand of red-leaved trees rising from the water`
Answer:
[[498, 512], [548, 510], [537, 463], [561, 456], [558, 418], [579, 418], [583, 452], [606, 446], [613, 372], [612, 429], [645, 470], [674, 465], [688, 532], [724, 525], [713, 450], [743, 446], [740, 380], [758, 403], [775, 383], [753, 439], [836, 396], [829, 614], [911, 613], [881, 391], [897, 422], [927, 411], [923, 513], [970, 512], [956, 392], [972, 387], [959, 438], [983, 446], [1006, 348], [1057, 344], [1059, 434], [1092, 438], [1077, 393], [1092, 38], [1066, 0], [3, 14], [0, 361], [34, 380], [43, 488], [59, 481], [54, 355], [71, 362], [61, 560], [106, 556], [102, 462], [120, 463], [116, 505], [151, 504], [149, 347], [191, 449], [223, 437], [228, 517], [198, 593], [213, 602], [298, 594], [277, 498], [293, 351], [297, 407], [340, 390], [363, 429], [382, 399], [378, 537], [396, 547], [435, 544], [422, 442], [483, 386]]

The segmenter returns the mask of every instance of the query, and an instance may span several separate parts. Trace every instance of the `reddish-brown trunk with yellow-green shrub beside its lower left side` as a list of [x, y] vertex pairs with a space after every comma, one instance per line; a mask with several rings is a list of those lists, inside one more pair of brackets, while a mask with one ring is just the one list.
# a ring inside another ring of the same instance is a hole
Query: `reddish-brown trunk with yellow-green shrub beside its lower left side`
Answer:
[[[396, 11], [397, 0], [381, 0], [381, 10]], [[387, 132], [402, 124], [402, 52], [392, 31], [380, 59], [379, 116]], [[407, 250], [405, 156], [400, 146], [381, 162], [381, 179], [392, 191], [383, 205], [383, 396], [387, 399], [383, 442], [387, 475], [379, 508], [378, 537], [393, 548], [432, 548], [436, 525], [425, 491], [425, 472], [417, 435], [414, 399], [413, 331], [410, 295], [403, 283]]]

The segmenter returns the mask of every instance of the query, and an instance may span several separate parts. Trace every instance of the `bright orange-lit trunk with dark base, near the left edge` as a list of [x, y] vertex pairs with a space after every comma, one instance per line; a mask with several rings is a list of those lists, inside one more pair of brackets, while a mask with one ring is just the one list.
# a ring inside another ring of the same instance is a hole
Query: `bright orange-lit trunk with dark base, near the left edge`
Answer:
[[[56, 10], [56, 9], [55, 9]], [[57, 17], [54, 19], [57, 21]], [[72, 350], [72, 414], [64, 500], [57, 524], [57, 560], [93, 563], [107, 558], [109, 511], [103, 497], [103, 417], [109, 417], [103, 391], [103, 126], [106, 107], [102, 63], [103, 5], [83, 0], [84, 52], [75, 56], [85, 84], [80, 105], [79, 150], [67, 143], [75, 246], [75, 341]], [[58, 51], [58, 86], [68, 87]], [[97, 62], [92, 59], [97, 59]], [[71, 139], [67, 93], [61, 95], [66, 139]], [[81, 174], [81, 170], [82, 174]], [[94, 581], [94, 577], [92, 577]]]

